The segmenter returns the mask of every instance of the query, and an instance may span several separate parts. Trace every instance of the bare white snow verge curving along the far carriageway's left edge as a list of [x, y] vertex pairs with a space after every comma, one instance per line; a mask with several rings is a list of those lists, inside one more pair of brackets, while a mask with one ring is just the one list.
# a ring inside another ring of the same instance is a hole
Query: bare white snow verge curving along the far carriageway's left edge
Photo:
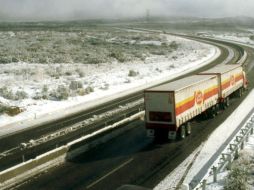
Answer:
[[[220, 54], [217, 47], [208, 44], [202, 44], [174, 36], [167, 36], [167, 38], [169, 41], [177, 40], [177, 42], [182, 44], [182, 48], [176, 51], [174, 54], [175, 56], [169, 59], [155, 57], [145, 62], [112, 63], [110, 65], [101, 64], [99, 68], [98, 65], [85, 65], [85, 70], [87, 70], [87, 73], [90, 73], [87, 75], [86, 80], [91, 81], [95, 89], [94, 92], [85, 96], [70, 97], [64, 101], [35, 101], [31, 98], [16, 101], [15, 103], [21, 107], [23, 106], [25, 111], [15, 117], [10, 117], [6, 114], [0, 115], [0, 136], [13, 133], [17, 130], [24, 130], [27, 127], [42, 124], [49, 120], [63, 118], [71, 113], [94, 107], [137, 90], [148, 88], [162, 81], [172, 79], [181, 74], [195, 70], [198, 67], [202, 67], [217, 58]], [[20, 63], [18, 65], [7, 64], [4, 66], [12, 66], [13, 68], [17, 67], [17, 69], [21, 69], [22, 66], [27, 67], [27, 65], [27, 63]], [[36, 67], [38, 70], [45, 67], [45, 65], [39, 67], [40, 64], [29, 64], [29, 66]], [[67, 65], [66, 67], [74, 66], [75, 64]], [[80, 68], [80, 64], [77, 65], [77, 68]], [[138, 75], [128, 77], [128, 72], [130, 70], [138, 72]], [[12, 77], [14, 76], [12, 75], [11, 78]], [[25, 80], [24, 77], [26, 78], [26, 76], [23, 76], [23, 80], [22, 78], [14, 78], [14, 84], [10, 83], [10, 78], [6, 75], [5, 78], [1, 78], [1, 80], [2, 82], [7, 82], [9, 86], [15, 85], [17, 82], [21, 81], [23, 88], [31, 87], [31, 83]], [[41, 77], [43, 78], [43, 76]], [[27, 84], [27, 82], [29, 83]], [[44, 81], [41, 81], [40, 85], [46, 82], [50, 84], [54, 81], [46, 78]], [[29, 90], [31, 89], [33, 88]], [[3, 98], [1, 98], [0, 101], [6, 104], [10, 103]]]

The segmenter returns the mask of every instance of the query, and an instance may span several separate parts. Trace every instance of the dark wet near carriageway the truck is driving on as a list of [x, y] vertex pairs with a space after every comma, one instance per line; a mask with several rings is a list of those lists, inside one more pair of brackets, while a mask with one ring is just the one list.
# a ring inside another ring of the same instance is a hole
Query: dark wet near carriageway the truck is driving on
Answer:
[[[239, 48], [235, 49], [240, 55]], [[246, 70], [249, 88], [253, 88], [253, 49], [244, 49], [248, 52]], [[226, 57], [224, 49], [216, 61], [203, 69], [222, 62]], [[237, 56], [234, 59], [238, 59]], [[116, 189], [122, 184], [152, 188], [200, 145], [243, 99], [232, 99], [229, 109], [214, 119], [198, 118], [193, 121], [192, 135], [184, 141], [154, 142], [146, 137], [144, 122], [132, 122], [126, 126], [130, 129], [124, 134], [27, 181], [17, 189]]]

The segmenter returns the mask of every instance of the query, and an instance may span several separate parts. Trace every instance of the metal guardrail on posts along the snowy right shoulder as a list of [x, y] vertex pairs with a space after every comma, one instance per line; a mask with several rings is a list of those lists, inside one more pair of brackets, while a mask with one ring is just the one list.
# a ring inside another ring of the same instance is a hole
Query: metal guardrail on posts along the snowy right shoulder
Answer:
[[[231, 169], [232, 161], [238, 157], [239, 150], [244, 148], [245, 142], [248, 142], [249, 136], [254, 132], [254, 112], [239, 130], [236, 136], [222, 151], [217, 160], [214, 161], [212, 167], [206, 175], [200, 180], [198, 185], [192, 189], [205, 190], [207, 184], [217, 182], [217, 175], [226, 169]], [[212, 179], [212, 180], [211, 180]]]

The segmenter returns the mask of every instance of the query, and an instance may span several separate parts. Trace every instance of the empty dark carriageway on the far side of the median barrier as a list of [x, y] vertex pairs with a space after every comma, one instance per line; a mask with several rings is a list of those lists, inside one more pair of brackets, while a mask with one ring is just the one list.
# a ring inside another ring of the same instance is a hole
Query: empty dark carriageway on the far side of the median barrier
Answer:
[[[198, 39], [198, 40], [201, 40], [201, 39]], [[242, 55], [242, 49], [239, 48], [238, 46], [235, 46], [234, 44], [223, 42], [222, 45], [220, 45], [217, 41], [214, 41], [214, 40], [210, 40], [210, 42], [208, 41], [207, 43], [212, 43], [212, 44], [216, 43], [217, 46], [221, 49], [222, 53], [216, 60], [211, 62], [209, 65], [203, 67], [202, 69], [198, 69], [195, 72], [200, 72], [201, 70], [208, 69], [208, 68], [216, 65], [217, 63], [223, 62], [226, 59], [226, 57], [229, 55], [228, 49], [225, 48], [225, 46], [229, 46], [235, 52], [235, 56], [231, 60], [232, 62], [235, 62], [236, 60], [238, 60], [239, 56]], [[193, 74], [195, 72], [191, 72], [187, 75]], [[184, 75], [184, 76], [186, 76], [186, 75]], [[139, 91], [139, 92], [136, 92], [135, 94], [131, 94], [127, 97], [122, 97], [122, 98], [116, 99], [114, 101], [107, 102], [103, 105], [94, 107], [89, 110], [84, 110], [83, 112], [77, 113], [77, 114], [72, 115], [68, 118], [63, 118], [58, 121], [48, 123], [48, 124], [42, 125], [42, 126], [34, 126], [33, 128], [29, 128], [25, 131], [18, 132], [16, 134], [10, 134], [5, 137], [1, 137], [0, 138], [0, 143], [1, 143], [0, 152], [6, 151], [8, 149], [15, 149], [15, 151], [14, 151], [15, 153], [10, 154], [9, 156], [0, 158], [1, 163], [2, 163], [0, 166], [0, 171], [4, 170], [10, 166], [13, 166], [15, 164], [21, 163], [23, 160], [28, 160], [28, 159], [34, 158], [37, 155], [40, 155], [46, 151], [52, 150], [57, 146], [61, 146], [61, 145], [66, 144], [72, 140], [75, 140], [85, 134], [89, 134], [92, 131], [96, 131], [96, 130], [104, 127], [105, 123], [110, 124], [110, 123], [113, 123], [114, 121], [122, 119], [122, 116], [116, 115], [115, 118], [113, 118], [113, 120], [112, 120], [112, 118], [110, 118], [109, 120], [105, 120], [104, 122], [98, 123], [96, 125], [92, 125], [87, 128], [77, 130], [74, 133], [65, 135], [64, 137], [56, 138], [54, 140], [48, 141], [47, 143], [44, 143], [40, 146], [33, 147], [31, 149], [20, 150], [20, 148], [19, 148], [20, 143], [29, 142], [31, 139], [37, 139], [42, 136], [46, 136], [48, 134], [53, 133], [56, 130], [68, 128], [71, 125], [74, 125], [74, 124], [81, 122], [85, 119], [93, 117], [93, 115], [102, 114], [108, 110], [112, 110], [112, 109], [117, 108], [119, 106], [123, 106], [129, 102], [139, 100], [141, 98], [143, 98], [143, 91]], [[133, 111], [131, 111], [131, 113], [128, 113], [128, 114], [130, 115], [135, 112], [138, 112], [140, 109], [142, 109], [142, 106], [143, 105], [140, 105], [140, 107], [137, 107], [136, 110], [133, 110]]]

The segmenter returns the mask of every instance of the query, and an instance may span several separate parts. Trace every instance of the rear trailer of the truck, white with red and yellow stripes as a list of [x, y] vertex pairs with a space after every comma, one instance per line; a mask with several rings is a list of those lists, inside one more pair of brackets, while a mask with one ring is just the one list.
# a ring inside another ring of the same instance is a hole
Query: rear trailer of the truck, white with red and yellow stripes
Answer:
[[217, 105], [219, 88], [217, 75], [194, 75], [145, 90], [147, 135], [185, 138], [190, 120]]

